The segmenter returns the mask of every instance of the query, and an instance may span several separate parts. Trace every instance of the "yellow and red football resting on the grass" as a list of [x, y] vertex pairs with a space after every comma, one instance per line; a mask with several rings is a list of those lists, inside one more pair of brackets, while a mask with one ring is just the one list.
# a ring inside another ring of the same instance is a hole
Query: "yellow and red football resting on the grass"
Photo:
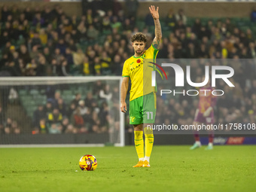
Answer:
[[94, 171], [97, 168], [97, 160], [93, 155], [86, 154], [79, 160], [79, 166], [82, 171]]

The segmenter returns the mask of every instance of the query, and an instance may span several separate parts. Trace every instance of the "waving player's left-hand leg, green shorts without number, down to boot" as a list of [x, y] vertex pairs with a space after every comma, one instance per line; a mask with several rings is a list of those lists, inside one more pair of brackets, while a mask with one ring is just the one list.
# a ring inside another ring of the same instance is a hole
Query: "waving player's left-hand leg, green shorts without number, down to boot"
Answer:
[[130, 101], [130, 124], [134, 128], [134, 145], [139, 157], [139, 163], [133, 167], [142, 167], [144, 161], [144, 140], [143, 140], [143, 124], [142, 124], [142, 109], [139, 106], [142, 98], [133, 99]]

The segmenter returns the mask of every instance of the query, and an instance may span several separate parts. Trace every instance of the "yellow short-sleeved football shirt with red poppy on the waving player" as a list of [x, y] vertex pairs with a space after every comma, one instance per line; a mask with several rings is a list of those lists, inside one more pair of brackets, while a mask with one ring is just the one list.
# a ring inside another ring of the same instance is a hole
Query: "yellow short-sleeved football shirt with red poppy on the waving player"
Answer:
[[155, 91], [155, 87], [151, 87], [151, 72], [154, 65], [149, 62], [155, 62], [157, 53], [158, 50], [151, 44], [142, 56], [131, 56], [124, 62], [122, 76], [131, 80], [130, 101]]

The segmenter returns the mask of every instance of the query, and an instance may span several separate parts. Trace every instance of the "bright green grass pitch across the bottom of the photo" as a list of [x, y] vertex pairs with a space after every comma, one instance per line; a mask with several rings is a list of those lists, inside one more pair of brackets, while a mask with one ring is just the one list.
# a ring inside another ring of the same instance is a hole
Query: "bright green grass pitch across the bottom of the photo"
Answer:
[[[154, 146], [150, 168], [132, 168], [133, 146], [0, 148], [0, 191], [256, 191], [256, 146], [188, 148]], [[84, 154], [95, 171], [78, 167]]]

